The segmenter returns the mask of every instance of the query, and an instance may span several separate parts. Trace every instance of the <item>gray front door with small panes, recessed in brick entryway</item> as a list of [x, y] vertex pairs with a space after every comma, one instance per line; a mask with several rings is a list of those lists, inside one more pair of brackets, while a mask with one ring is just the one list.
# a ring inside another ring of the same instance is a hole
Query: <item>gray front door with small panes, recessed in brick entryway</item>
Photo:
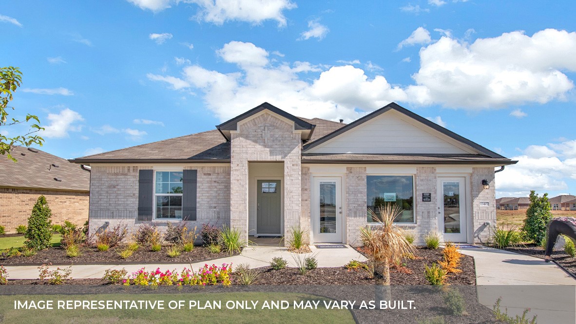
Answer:
[[280, 180], [258, 180], [256, 233], [280, 234], [282, 196]]

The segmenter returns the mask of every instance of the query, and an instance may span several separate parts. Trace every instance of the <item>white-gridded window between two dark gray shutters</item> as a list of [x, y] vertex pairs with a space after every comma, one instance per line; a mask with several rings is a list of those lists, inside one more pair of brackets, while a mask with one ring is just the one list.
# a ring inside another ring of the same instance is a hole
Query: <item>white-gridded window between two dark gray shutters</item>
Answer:
[[182, 218], [182, 171], [156, 171], [154, 201], [157, 219]]

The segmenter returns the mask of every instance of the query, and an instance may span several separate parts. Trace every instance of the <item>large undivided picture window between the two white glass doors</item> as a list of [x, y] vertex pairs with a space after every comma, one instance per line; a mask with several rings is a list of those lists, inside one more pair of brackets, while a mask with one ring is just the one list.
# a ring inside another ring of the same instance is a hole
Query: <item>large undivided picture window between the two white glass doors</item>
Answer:
[[[367, 208], [378, 214], [378, 207], [396, 204], [403, 211], [395, 223], [414, 223], [414, 177], [413, 176], [366, 176]], [[370, 215], [369, 223], [375, 222]]]

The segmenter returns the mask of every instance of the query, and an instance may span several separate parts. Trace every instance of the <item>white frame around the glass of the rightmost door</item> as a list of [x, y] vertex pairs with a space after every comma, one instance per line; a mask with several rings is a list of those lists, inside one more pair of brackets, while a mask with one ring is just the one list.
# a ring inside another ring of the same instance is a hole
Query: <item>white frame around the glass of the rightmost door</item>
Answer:
[[[437, 184], [437, 206], [438, 206], [438, 230], [444, 241], [452, 242], [469, 242], [472, 235], [471, 225], [472, 218], [469, 214], [469, 202], [470, 198], [468, 195], [469, 181], [467, 181], [466, 176], [450, 176], [450, 177], [438, 177]], [[460, 233], [445, 233], [444, 232], [444, 186], [443, 182], [458, 182], [460, 192], [458, 192], [458, 199], [460, 200]]]

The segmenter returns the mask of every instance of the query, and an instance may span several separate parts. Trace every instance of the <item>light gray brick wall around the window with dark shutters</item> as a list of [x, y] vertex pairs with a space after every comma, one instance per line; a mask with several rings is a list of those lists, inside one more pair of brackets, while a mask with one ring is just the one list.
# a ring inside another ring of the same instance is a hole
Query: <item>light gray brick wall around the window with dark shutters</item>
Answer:
[[[90, 234], [109, 222], [109, 227], [125, 224], [132, 233], [143, 223], [138, 220], [138, 173], [151, 166], [92, 166], [90, 178]], [[187, 166], [198, 170], [197, 218], [187, 221], [188, 228], [200, 230], [203, 223], [229, 225], [230, 167]], [[153, 203], [152, 201], [150, 203]], [[167, 224], [154, 220], [160, 231]], [[130, 235], [129, 235], [130, 236]]]

